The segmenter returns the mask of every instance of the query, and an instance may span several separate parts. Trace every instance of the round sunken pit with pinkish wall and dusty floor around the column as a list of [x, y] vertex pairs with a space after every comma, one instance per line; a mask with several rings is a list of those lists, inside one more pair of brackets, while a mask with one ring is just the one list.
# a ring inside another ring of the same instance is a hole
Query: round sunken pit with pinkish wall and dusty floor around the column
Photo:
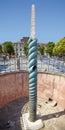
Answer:
[[[37, 78], [37, 111], [45, 124], [41, 130], [65, 130], [65, 75], [39, 72]], [[1, 130], [24, 130], [28, 95], [28, 72], [0, 75]]]

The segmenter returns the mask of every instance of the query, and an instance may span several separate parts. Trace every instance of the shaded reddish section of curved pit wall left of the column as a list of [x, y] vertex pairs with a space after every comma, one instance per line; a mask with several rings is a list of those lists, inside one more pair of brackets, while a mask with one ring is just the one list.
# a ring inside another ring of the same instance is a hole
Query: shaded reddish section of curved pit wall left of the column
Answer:
[[0, 107], [20, 97], [28, 96], [28, 73], [0, 75]]

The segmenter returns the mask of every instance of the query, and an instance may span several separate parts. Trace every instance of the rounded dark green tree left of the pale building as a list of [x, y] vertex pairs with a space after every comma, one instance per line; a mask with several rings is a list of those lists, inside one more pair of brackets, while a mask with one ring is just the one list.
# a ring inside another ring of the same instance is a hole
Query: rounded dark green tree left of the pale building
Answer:
[[4, 52], [9, 55], [14, 54], [14, 46], [12, 42], [5, 42], [4, 43]]

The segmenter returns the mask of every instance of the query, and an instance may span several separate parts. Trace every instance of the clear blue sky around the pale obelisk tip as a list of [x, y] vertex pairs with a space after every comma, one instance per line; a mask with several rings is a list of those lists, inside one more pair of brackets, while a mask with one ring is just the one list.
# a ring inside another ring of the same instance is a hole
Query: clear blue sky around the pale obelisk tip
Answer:
[[0, 0], [0, 43], [30, 36], [32, 4], [36, 6], [38, 42], [65, 37], [65, 0]]

